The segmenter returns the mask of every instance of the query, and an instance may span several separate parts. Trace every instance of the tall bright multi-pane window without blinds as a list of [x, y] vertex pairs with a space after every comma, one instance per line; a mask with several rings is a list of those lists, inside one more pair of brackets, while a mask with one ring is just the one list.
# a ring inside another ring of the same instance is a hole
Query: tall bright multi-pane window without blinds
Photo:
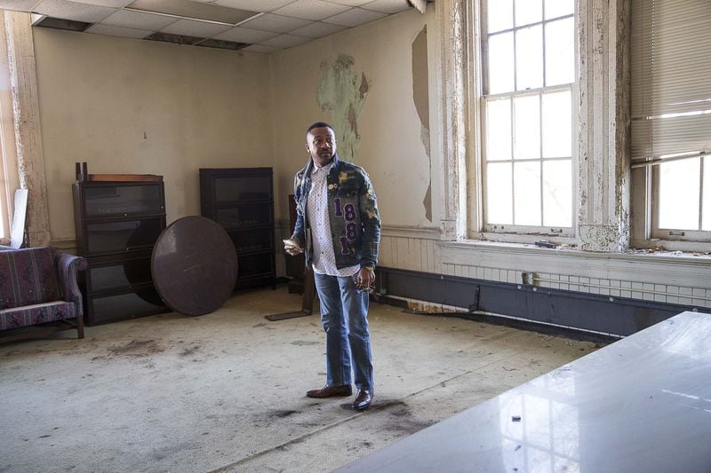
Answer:
[[571, 233], [574, 0], [482, 0], [484, 231]]

